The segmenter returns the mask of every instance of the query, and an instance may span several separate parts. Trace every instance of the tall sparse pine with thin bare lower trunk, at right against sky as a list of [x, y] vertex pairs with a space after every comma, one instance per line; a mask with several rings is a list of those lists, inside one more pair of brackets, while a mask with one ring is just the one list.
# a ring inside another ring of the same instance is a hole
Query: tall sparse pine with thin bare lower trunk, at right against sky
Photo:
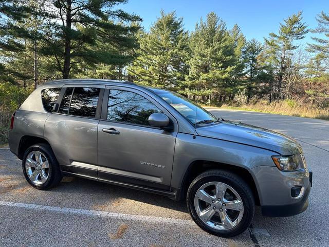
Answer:
[[307, 32], [307, 25], [302, 22], [302, 12], [300, 11], [284, 19], [284, 23], [280, 23], [278, 34], [271, 32], [269, 38], [264, 38], [268, 52], [271, 55], [270, 59], [276, 66], [275, 73], [278, 84], [275, 89], [276, 92], [273, 93], [275, 99], [281, 97], [283, 75], [291, 51], [299, 47], [294, 41], [304, 39]]

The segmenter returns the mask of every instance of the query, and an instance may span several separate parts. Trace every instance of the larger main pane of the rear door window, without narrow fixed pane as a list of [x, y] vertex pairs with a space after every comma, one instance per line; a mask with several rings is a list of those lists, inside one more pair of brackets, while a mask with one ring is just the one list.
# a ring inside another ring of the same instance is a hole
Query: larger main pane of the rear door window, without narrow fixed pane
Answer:
[[95, 117], [99, 91], [96, 87], [75, 87], [68, 114]]

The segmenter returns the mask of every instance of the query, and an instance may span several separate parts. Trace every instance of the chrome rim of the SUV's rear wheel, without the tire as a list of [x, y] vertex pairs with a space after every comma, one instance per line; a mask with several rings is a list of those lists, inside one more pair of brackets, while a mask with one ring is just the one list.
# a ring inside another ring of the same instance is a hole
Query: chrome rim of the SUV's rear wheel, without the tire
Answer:
[[43, 153], [32, 151], [25, 160], [25, 170], [33, 184], [41, 185], [49, 177], [49, 162]]

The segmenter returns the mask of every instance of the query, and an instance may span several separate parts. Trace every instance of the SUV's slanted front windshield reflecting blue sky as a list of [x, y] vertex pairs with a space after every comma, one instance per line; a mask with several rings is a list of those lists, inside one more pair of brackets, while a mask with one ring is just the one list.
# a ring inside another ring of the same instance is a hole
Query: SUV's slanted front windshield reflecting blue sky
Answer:
[[175, 108], [193, 125], [204, 120], [216, 121], [217, 119], [211, 113], [180, 94], [164, 90], [154, 90], [154, 92]]

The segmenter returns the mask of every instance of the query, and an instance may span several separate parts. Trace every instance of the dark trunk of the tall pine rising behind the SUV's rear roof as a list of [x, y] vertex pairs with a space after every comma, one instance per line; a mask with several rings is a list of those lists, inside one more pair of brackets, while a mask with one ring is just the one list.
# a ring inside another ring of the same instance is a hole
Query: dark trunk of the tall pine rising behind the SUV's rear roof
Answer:
[[63, 79], [68, 79], [70, 76], [71, 66], [71, 0], [67, 0], [66, 7], [66, 33], [65, 33], [65, 52], [64, 52], [64, 68], [63, 68]]

